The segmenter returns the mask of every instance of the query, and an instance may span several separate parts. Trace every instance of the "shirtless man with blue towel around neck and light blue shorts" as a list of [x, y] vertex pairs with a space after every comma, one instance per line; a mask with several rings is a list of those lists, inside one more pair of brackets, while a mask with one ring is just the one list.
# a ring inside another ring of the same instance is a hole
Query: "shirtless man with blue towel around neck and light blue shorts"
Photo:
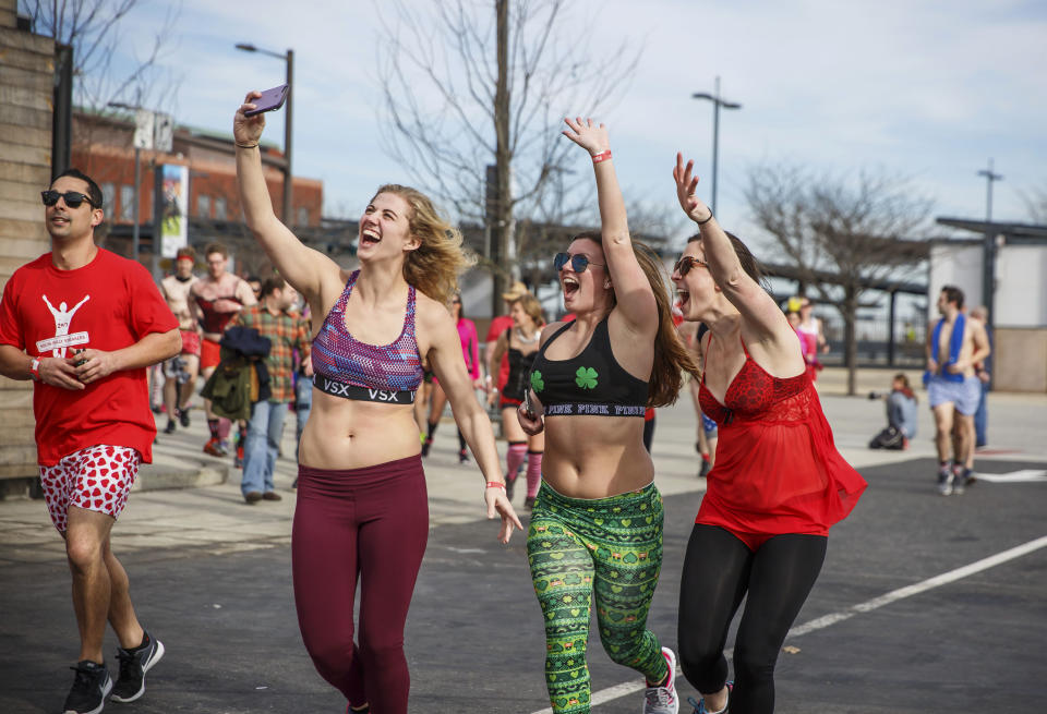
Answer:
[[[927, 397], [935, 415], [935, 445], [938, 447], [938, 493], [960, 495], [971, 477], [966, 467], [974, 448], [974, 412], [978, 409], [982, 384], [974, 365], [989, 355], [985, 327], [967, 319], [963, 291], [946, 286], [938, 295], [941, 319], [927, 334]], [[953, 435], [953, 421], [956, 422]], [[955, 436], [955, 438], [953, 438]], [[953, 460], [949, 448], [952, 445]]]

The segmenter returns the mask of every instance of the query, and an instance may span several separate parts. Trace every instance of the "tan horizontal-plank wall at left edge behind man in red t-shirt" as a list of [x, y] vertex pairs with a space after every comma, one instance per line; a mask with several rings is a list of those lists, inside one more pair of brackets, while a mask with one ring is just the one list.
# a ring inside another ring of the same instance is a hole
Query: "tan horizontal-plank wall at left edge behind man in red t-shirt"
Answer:
[[[15, 27], [0, 0], [0, 289], [50, 251], [39, 192], [51, 180], [55, 43]], [[33, 385], [0, 377], [0, 479], [35, 476]]]

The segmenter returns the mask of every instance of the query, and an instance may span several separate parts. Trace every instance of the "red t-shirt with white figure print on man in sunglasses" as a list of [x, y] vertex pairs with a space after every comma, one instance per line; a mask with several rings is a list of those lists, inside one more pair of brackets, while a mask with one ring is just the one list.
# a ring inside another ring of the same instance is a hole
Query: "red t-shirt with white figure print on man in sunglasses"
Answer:
[[[50, 253], [41, 255], [15, 270], [0, 300], [0, 344], [31, 356], [109, 352], [177, 327], [149, 273], [104, 249], [76, 270], [59, 270]], [[41, 465], [100, 444], [131, 447], [144, 462], [153, 460], [156, 423], [145, 368], [115, 372], [83, 390], [37, 383], [33, 412]]]

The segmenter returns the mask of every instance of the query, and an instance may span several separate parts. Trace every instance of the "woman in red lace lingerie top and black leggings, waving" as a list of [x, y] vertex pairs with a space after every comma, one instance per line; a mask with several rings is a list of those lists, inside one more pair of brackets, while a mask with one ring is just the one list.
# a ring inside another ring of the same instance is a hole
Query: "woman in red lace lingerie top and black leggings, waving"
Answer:
[[[673, 178], [698, 223], [673, 270], [681, 310], [709, 332], [699, 400], [720, 427], [679, 592], [679, 658], [702, 694], [697, 714], [774, 710], [774, 664], [818, 578], [829, 528], [866, 483], [843, 460], [807, 374], [796, 332], [760, 286], [756, 258], [697, 197], [694, 161]], [[734, 646], [723, 650], [747, 595]]]

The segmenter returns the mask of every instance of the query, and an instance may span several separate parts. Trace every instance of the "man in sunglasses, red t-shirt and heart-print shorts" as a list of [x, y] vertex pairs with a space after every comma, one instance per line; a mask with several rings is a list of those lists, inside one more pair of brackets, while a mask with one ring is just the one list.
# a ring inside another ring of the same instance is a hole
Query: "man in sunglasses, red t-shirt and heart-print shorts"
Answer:
[[[33, 379], [40, 485], [65, 538], [80, 661], [64, 711], [134, 701], [164, 645], [137, 620], [109, 534], [156, 424], [146, 367], [179, 353], [178, 320], [148, 271], [99, 249], [97, 184], [76, 169], [43, 192], [51, 252], [15, 270], [0, 300], [0, 374]], [[106, 620], [120, 640], [113, 685], [101, 654]]]

